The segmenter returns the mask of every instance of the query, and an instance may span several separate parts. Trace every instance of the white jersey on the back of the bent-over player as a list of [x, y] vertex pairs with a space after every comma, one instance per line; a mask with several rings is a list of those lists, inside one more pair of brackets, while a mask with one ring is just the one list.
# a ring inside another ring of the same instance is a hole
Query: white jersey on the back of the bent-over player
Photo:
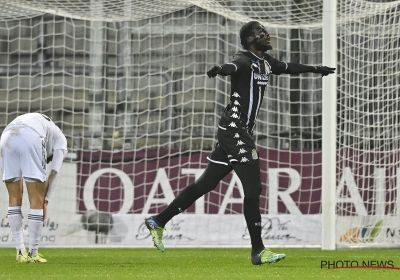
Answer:
[[67, 139], [58, 126], [46, 115], [40, 113], [28, 113], [15, 118], [4, 132], [14, 127], [28, 126], [45, 139], [47, 157], [53, 155], [54, 150], [62, 150], [67, 153]]

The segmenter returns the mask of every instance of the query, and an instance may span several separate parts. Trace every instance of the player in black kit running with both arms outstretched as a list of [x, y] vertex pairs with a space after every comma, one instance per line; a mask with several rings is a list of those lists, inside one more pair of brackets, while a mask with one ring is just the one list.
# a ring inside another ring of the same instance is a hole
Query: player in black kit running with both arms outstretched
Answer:
[[266, 52], [272, 50], [270, 36], [264, 26], [251, 21], [240, 30], [244, 51], [239, 51], [233, 60], [212, 67], [207, 75], [231, 76], [230, 103], [225, 108], [218, 124], [218, 142], [207, 157], [209, 164], [195, 183], [187, 186], [171, 204], [160, 214], [146, 218], [154, 245], [164, 251], [162, 235], [165, 224], [199, 197], [212, 191], [232, 170], [236, 172], [243, 185], [243, 211], [249, 230], [254, 265], [275, 263], [286, 257], [265, 248], [261, 238], [261, 215], [259, 198], [262, 184], [260, 162], [256, 145], [252, 138], [257, 115], [262, 105], [264, 91], [271, 74], [318, 73], [326, 76], [335, 68], [286, 63], [274, 59]]

